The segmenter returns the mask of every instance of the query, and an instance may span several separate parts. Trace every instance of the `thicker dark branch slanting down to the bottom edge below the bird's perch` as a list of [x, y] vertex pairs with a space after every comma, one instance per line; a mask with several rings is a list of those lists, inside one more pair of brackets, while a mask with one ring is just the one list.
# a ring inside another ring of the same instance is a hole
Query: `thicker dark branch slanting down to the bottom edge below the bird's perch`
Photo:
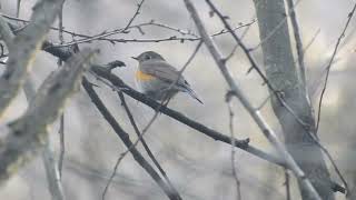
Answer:
[[[167, 197], [171, 200], [180, 200], [179, 193], [174, 192], [168, 184], [159, 177], [156, 170], [146, 161], [141, 153], [136, 149], [129, 134], [120, 127], [109, 110], [105, 107], [99, 96], [92, 89], [92, 84], [86, 79], [82, 79], [82, 86], [89, 94], [91, 101], [96, 104], [102, 117], [110, 123], [116, 133], [120, 137], [123, 144], [130, 150], [134, 159], [149, 173], [149, 176], [156, 181], [156, 183], [164, 190]], [[122, 157], [123, 158], [123, 157]]]

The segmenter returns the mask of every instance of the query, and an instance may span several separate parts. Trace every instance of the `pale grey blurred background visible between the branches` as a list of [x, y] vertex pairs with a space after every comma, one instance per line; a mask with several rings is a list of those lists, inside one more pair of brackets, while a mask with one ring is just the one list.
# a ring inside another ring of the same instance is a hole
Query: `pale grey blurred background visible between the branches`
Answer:
[[[0, 0], [0, 2], [3, 13], [16, 14], [16, 1]], [[34, 0], [22, 1], [21, 19], [30, 18], [34, 2]], [[135, 0], [67, 0], [63, 7], [63, 27], [66, 30], [89, 36], [123, 28], [135, 13], [137, 3], [138, 1]], [[219, 32], [222, 26], [216, 17], [210, 18], [205, 1], [196, 0], [194, 3], [209, 32]], [[255, 19], [251, 0], [221, 0], [215, 1], [215, 3], [225, 14], [230, 17], [230, 23], [234, 27], [251, 22]], [[319, 81], [324, 80], [320, 77], [322, 72], [332, 56], [353, 4], [354, 1], [350, 0], [301, 0], [296, 8], [304, 46], [316, 36], [305, 56], [307, 80], [315, 108], [320, 93]], [[149, 22], [150, 20], [197, 33], [182, 0], [146, 0], [140, 14], [132, 24]], [[55, 24], [57, 26], [57, 23]], [[336, 62], [333, 64], [323, 102], [319, 130], [322, 143], [330, 151], [345, 177], [353, 176], [356, 163], [355, 24], [355, 20], [353, 20], [337, 53]], [[112, 38], [161, 39], [179, 36], [175, 31], [158, 27], [144, 27], [142, 30], [145, 34], [132, 29], [129, 33], [117, 34]], [[237, 33], [241, 34], [244, 30], [245, 28], [239, 29]], [[253, 23], [244, 38], [244, 42], [248, 47], [255, 47], [259, 43], [258, 36], [258, 26]], [[59, 43], [58, 32], [51, 31], [49, 39]], [[65, 34], [65, 40], [66, 42], [72, 41], [72, 37]], [[215, 40], [225, 54], [230, 53], [234, 49], [235, 42], [228, 34], [216, 37]], [[130, 57], [138, 56], [147, 50], [154, 50], [180, 69], [194, 52], [196, 44], [197, 41], [116, 44], [93, 41], [80, 44], [80, 47], [100, 49], [100, 54], [96, 60], [97, 63], [107, 63], [113, 60], [123, 61], [127, 67], [115, 69], [113, 73], [136, 88], [134, 73], [137, 62]], [[260, 48], [253, 51], [253, 56], [261, 66]], [[263, 81], [256, 72], [246, 74], [249, 63], [240, 49], [237, 49], [228, 66], [235, 80], [248, 93], [254, 106], [259, 106], [268, 97], [268, 91], [265, 86], [261, 86]], [[31, 76], [36, 84], [39, 86], [46, 76], [56, 69], [57, 59], [41, 52], [37, 57]], [[205, 47], [199, 50], [184, 76], [202, 99], [204, 104], [198, 103], [185, 93], [180, 93], [170, 101], [169, 107], [229, 136], [229, 114], [225, 102], [225, 93], [228, 87]], [[130, 133], [131, 139], [136, 139], [137, 137], [116, 92], [99, 81], [96, 83], [99, 84], [97, 91], [112, 114]], [[142, 129], [152, 117], [154, 111], [130, 98], [127, 98], [127, 101], [139, 128]], [[11, 104], [11, 111], [6, 116], [6, 120], [11, 121], [21, 116], [26, 108], [27, 101], [21, 92]], [[273, 148], [237, 100], [234, 100], [233, 109], [235, 112], [235, 136], [239, 139], [250, 138], [253, 146], [273, 152]], [[283, 137], [269, 103], [264, 107], [263, 114], [279, 137]], [[51, 143], [55, 151], [58, 152], [58, 124], [55, 124], [50, 131]], [[126, 148], [93, 107], [83, 89], [75, 94], [65, 110], [65, 134], [66, 154], [62, 181], [67, 198], [77, 200], [101, 199], [101, 193], [116, 160]], [[184, 199], [236, 199], [236, 186], [230, 163], [231, 150], [226, 143], [214, 141], [165, 114], [158, 117], [146, 133], [145, 139]], [[148, 159], [142, 147], [139, 144], [138, 148]], [[236, 150], [235, 162], [241, 183], [243, 199], [285, 199], [285, 178], [281, 168], [239, 149]], [[327, 163], [330, 167], [329, 162]], [[340, 182], [333, 168], [329, 169], [334, 180]], [[291, 179], [291, 189], [294, 199], [298, 199], [299, 191], [294, 178]], [[344, 199], [340, 193], [337, 193], [336, 197]], [[0, 199], [50, 199], [40, 157], [14, 176], [7, 186], [0, 188]], [[154, 200], [167, 198], [132, 157], [128, 154], [119, 166], [106, 199]]]

